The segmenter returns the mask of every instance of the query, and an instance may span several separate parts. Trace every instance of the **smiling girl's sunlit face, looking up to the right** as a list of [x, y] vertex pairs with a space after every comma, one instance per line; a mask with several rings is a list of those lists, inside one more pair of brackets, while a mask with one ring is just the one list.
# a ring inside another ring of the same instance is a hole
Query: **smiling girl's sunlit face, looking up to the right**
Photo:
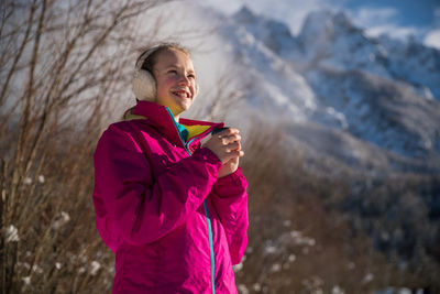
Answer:
[[178, 50], [167, 50], [154, 65], [157, 86], [156, 104], [167, 106], [175, 117], [187, 110], [196, 96], [196, 73], [189, 56]]

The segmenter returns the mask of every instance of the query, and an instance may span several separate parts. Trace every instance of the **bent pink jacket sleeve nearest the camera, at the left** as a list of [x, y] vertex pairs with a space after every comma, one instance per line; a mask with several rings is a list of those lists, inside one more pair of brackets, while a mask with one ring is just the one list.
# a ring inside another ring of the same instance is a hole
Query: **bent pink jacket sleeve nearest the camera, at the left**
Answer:
[[114, 127], [102, 134], [94, 160], [98, 231], [112, 250], [118, 238], [150, 243], [182, 225], [208, 196], [221, 167], [211, 151], [200, 149], [153, 175], [133, 138]]

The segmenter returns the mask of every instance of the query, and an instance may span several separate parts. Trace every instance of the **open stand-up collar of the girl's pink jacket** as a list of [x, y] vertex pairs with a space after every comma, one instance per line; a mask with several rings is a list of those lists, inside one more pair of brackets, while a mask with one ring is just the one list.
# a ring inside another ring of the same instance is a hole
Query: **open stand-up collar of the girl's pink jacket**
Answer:
[[[184, 142], [182, 141], [180, 135], [175, 126], [175, 120], [169, 115], [167, 107], [150, 101], [138, 101], [136, 106], [132, 110], [132, 113], [136, 117], [140, 116], [138, 118], [143, 117], [146, 123], [153, 124], [170, 143], [184, 146]], [[206, 134], [210, 133], [213, 129], [223, 127], [223, 122], [216, 123], [216, 122], [190, 120], [184, 118], [180, 118], [178, 122], [188, 127], [209, 126], [207, 130], [194, 137], [194, 138], [200, 137], [200, 139]]]

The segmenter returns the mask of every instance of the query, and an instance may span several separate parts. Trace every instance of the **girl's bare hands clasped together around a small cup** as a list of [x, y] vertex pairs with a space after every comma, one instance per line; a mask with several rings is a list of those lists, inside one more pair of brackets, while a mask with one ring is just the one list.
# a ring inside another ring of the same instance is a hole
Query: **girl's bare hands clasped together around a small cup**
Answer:
[[223, 163], [218, 177], [234, 173], [239, 167], [239, 159], [244, 155], [241, 150], [240, 131], [235, 128], [213, 134], [201, 146], [211, 150]]

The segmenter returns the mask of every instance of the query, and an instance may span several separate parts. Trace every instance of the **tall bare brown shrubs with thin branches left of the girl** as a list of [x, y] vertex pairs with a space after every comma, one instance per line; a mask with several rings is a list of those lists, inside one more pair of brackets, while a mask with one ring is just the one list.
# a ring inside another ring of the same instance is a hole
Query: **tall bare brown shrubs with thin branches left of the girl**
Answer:
[[162, 20], [154, 9], [165, 2], [2, 1], [2, 293], [111, 287], [113, 266], [101, 264], [112, 257], [95, 229], [91, 155], [130, 85], [136, 40], [154, 40]]

